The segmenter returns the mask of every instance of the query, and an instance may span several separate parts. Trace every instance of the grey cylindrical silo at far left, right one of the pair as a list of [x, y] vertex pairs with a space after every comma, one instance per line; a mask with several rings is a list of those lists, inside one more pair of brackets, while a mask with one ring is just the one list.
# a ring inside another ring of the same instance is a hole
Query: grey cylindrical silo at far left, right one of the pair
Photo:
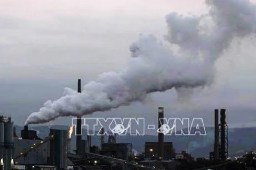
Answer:
[[4, 123], [4, 147], [13, 147], [13, 122]]

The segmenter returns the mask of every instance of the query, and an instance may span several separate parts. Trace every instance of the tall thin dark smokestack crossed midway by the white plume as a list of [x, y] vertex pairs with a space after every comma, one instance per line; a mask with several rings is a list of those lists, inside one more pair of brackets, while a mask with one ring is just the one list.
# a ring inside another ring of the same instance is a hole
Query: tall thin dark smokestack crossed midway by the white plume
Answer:
[[[78, 79], [77, 92], [81, 93], [81, 79]], [[77, 116], [76, 120], [76, 153], [82, 154], [82, 120], [81, 116]]]

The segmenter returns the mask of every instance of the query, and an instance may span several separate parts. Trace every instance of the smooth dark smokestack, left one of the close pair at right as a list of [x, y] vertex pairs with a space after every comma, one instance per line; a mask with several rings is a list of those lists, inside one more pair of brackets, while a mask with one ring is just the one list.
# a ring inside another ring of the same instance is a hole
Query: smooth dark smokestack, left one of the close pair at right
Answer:
[[219, 160], [219, 109], [214, 110], [214, 160]]

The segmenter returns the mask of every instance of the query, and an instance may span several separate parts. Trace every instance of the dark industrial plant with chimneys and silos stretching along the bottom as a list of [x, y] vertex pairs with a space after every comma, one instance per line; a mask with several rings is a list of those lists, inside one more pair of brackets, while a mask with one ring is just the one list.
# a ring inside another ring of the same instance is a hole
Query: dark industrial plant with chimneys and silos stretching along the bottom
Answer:
[[[81, 80], [78, 80], [81, 92]], [[158, 107], [158, 128], [163, 125], [164, 107]], [[243, 159], [228, 158], [228, 126], [226, 109], [214, 111], [214, 143], [209, 159], [193, 158], [188, 152], [176, 152], [173, 142], [165, 142], [164, 134], [158, 133], [158, 141], [146, 141], [144, 152], [134, 155], [132, 143], [118, 143], [115, 135], [105, 142], [100, 136], [100, 146], [92, 146], [91, 135], [83, 140], [76, 135], [76, 148], [71, 147], [71, 135], [75, 126], [67, 130], [50, 129], [41, 139], [36, 130], [25, 125], [18, 137], [11, 117], [0, 117], [0, 157], [2, 169], [243, 169], [249, 164], [249, 156]], [[81, 117], [77, 117], [77, 134], [82, 134]], [[102, 128], [101, 134], [105, 133]], [[250, 153], [251, 155], [254, 152]], [[249, 155], [250, 155], [249, 154]], [[247, 154], [248, 155], [248, 154]], [[255, 155], [255, 154], [254, 154]], [[202, 164], [204, 163], [204, 164]], [[250, 162], [252, 163], [252, 162]]]

